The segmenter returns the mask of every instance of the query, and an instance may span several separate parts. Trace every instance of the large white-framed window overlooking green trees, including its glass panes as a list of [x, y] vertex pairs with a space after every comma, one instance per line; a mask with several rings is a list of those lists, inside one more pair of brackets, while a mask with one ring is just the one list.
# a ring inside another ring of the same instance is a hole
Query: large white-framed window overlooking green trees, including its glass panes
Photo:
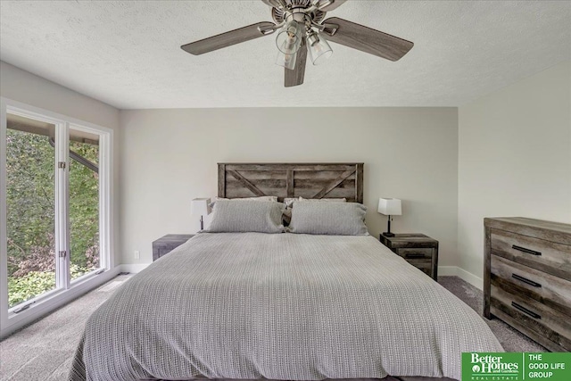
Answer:
[[2, 335], [112, 269], [111, 145], [108, 128], [2, 100]]

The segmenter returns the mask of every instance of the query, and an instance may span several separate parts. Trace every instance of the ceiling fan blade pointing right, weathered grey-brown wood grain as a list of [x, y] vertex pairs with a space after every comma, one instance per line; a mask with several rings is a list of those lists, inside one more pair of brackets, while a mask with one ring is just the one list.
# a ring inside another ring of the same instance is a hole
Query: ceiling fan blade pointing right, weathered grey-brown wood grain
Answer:
[[331, 29], [325, 25], [324, 32], [327, 41], [349, 46], [391, 61], [400, 60], [414, 46], [412, 42], [406, 39], [394, 37], [377, 29], [370, 29], [338, 17], [331, 17], [323, 21], [323, 24], [335, 24], [339, 27], [338, 29]]

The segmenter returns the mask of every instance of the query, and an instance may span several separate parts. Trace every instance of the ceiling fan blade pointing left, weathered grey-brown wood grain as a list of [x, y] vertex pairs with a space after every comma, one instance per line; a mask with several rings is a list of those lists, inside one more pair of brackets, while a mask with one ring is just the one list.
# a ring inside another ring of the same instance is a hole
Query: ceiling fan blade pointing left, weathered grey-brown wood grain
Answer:
[[263, 37], [271, 33], [266, 34], [261, 33], [258, 28], [271, 28], [274, 27], [273, 22], [258, 22], [257, 24], [248, 25], [247, 27], [230, 30], [229, 32], [222, 33], [216, 36], [201, 39], [199, 41], [191, 42], [180, 46], [182, 50], [190, 54], [199, 55], [204, 53], [209, 53], [214, 50], [221, 49], [227, 46], [233, 46], [240, 44], [245, 41], [250, 41], [251, 39]]

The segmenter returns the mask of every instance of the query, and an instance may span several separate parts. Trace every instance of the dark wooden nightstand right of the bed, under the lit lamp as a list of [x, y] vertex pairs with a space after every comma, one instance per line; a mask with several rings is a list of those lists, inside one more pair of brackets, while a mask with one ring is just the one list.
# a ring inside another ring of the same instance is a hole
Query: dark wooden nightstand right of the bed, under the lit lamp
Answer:
[[438, 277], [438, 241], [424, 234], [380, 235], [381, 244], [434, 280]]

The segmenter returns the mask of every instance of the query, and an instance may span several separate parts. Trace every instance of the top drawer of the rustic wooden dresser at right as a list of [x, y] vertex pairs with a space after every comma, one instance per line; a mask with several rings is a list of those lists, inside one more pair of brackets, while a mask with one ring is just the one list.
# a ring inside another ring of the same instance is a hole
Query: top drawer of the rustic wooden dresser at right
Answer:
[[504, 230], [490, 230], [492, 254], [571, 280], [571, 246]]

